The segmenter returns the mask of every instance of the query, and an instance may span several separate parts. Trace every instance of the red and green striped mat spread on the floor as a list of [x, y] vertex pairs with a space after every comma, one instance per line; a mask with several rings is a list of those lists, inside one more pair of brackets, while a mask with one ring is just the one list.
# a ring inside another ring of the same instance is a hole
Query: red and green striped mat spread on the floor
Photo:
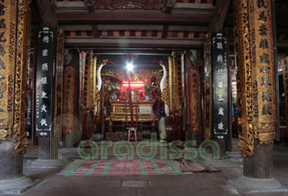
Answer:
[[174, 160], [74, 160], [59, 175], [176, 175], [182, 171]]

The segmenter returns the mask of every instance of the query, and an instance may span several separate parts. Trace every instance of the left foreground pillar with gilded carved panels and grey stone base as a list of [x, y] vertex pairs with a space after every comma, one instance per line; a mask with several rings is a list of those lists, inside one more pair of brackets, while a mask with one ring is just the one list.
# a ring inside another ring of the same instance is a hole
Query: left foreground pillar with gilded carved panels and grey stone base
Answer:
[[0, 5], [0, 191], [20, 193], [32, 182], [23, 175], [30, 9], [24, 0]]

